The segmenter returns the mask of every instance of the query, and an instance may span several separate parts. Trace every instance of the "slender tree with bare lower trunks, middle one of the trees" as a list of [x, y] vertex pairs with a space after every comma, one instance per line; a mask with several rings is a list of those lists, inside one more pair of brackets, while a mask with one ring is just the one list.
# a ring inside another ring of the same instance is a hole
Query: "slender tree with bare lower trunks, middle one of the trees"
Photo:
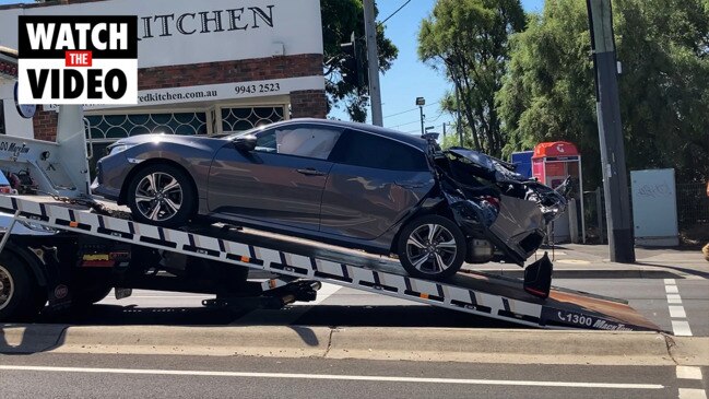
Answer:
[[[438, 0], [418, 33], [421, 60], [442, 70], [460, 93], [473, 146], [496, 156], [505, 138], [495, 93], [506, 71], [509, 35], [523, 28], [519, 0]], [[449, 110], [459, 107], [454, 94], [442, 103]]]

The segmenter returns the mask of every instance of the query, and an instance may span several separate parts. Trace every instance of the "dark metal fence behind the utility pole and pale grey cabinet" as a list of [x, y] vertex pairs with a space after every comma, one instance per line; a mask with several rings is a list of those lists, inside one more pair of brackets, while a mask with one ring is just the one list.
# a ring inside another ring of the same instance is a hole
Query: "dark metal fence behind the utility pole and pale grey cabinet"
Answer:
[[[677, 184], [677, 226], [688, 237], [702, 238], [709, 235], [709, 197], [707, 185], [701, 183]], [[628, 188], [631, 195], [633, 190]], [[605, 200], [603, 189], [583, 192], [586, 230], [589, 243], [603, 243], [607, 238], [605, 223]], [[630, 200], [633, 210], [633, 200]], [[633, 218], [633, 216], [630, 216]]]

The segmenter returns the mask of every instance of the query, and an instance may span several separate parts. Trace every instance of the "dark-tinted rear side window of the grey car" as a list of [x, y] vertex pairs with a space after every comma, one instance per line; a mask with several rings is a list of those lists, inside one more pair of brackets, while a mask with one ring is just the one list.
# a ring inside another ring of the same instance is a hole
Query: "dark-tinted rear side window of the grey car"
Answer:
[[423, 151], [385, 137], [352, 130], [345, 131], [330, 161], [388, 171], [429, 169]]

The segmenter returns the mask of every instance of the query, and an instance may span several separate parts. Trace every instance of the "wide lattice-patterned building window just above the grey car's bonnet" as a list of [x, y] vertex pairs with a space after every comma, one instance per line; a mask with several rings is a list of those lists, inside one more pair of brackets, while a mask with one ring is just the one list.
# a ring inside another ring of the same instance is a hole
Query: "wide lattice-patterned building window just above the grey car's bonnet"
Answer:
[[147, 133], [206, 136], [206, 113], [91, 115], [92, 140], [117, 140]]

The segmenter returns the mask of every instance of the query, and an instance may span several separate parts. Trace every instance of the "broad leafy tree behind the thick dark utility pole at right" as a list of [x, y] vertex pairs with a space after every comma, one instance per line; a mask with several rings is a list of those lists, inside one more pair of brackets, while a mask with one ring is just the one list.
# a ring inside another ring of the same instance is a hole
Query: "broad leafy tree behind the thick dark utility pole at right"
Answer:
[[[629, 169], [674, 167], [709, 177], [709, 7], [706, 0], [617, 0], [614, 30]], [[498, 109], [504, 153], [541, 141], [575, 142], [601, 181], [593, 62], [586, 3], [547, 1], [512, 38]]]

